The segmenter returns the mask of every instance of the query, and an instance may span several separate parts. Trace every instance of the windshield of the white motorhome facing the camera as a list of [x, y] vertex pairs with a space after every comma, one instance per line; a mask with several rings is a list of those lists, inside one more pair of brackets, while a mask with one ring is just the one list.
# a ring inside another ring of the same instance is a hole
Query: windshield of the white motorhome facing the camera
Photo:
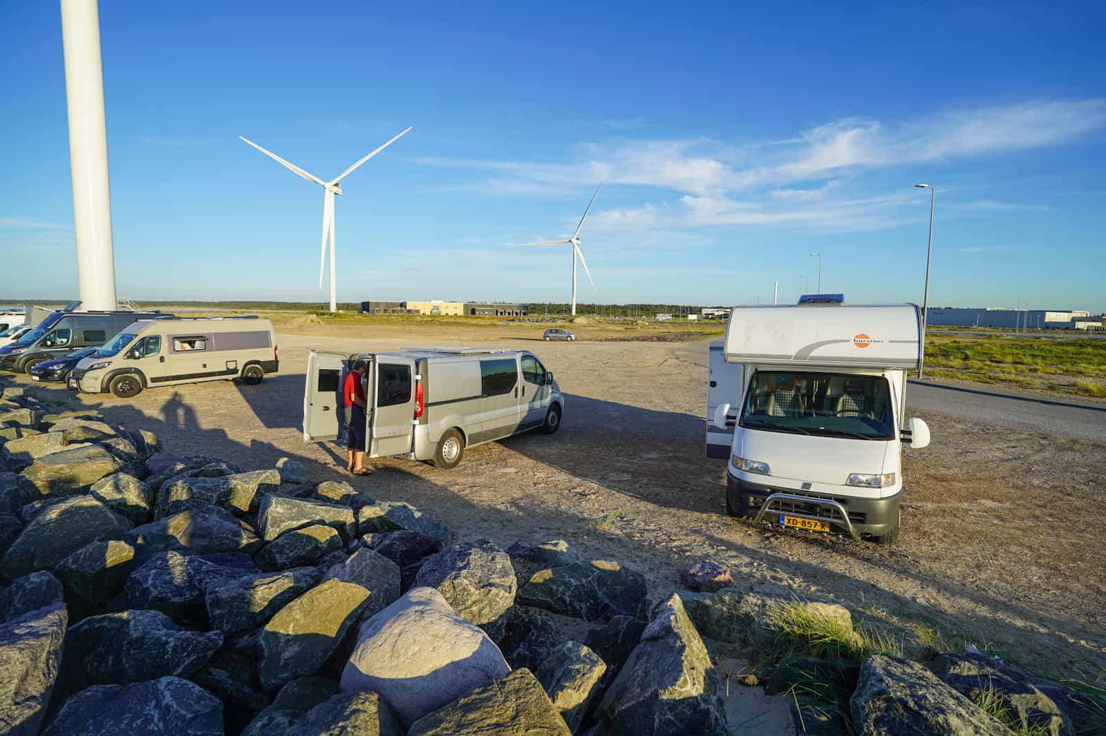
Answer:
[[741, 427], [856, 440], [890, 440], [895, 420], [881, 376], [757, 371]]

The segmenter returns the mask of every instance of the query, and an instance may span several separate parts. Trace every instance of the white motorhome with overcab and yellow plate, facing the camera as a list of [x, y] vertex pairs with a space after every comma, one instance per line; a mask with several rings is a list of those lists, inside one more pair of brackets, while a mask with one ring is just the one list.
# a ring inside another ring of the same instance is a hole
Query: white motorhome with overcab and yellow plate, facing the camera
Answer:
[[728, 460], [729, 513], [893, 544], [902, 446], [929, 444], [926, 422], [906, 418], [920, 356], [912, 304], [735, 307], [708, 388], [707, 454]]

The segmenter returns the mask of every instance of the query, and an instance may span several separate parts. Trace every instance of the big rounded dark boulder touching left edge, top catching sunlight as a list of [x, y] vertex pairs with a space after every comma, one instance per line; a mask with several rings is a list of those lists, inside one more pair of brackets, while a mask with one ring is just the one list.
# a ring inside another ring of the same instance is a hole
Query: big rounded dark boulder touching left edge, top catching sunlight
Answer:
[[51, 568], [81, 547], [103, 539], [118, 539], [129, 528], [129, 522], [95, 498], [65, 498], [23, 528], [0, 560], [0, 572], [14, 579]]

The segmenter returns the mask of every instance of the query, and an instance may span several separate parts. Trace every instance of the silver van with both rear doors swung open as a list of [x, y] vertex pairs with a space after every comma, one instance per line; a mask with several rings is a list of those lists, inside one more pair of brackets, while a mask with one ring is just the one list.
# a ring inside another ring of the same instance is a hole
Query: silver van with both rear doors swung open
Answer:
[[564, 396], [528, 350], [405, 348], [347, 355], [312, 350], [303, 391], [303, 440], [342, 433], [342, 383], [365, 360], [366, 455], [451, 469], [466, 448], [561, 425]]

